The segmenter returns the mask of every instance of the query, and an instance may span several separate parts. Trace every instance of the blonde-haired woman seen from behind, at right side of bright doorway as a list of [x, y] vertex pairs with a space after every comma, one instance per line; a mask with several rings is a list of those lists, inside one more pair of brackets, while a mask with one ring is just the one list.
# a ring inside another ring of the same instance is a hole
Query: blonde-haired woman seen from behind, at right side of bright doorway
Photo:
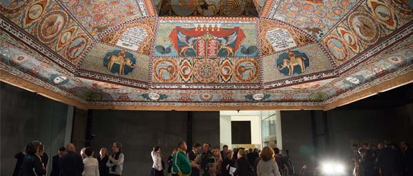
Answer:
[[281, 176], [275, 162], [273, 148], [266, 146], [260, 153], [261, 161], [258, 162], [257, 176]]

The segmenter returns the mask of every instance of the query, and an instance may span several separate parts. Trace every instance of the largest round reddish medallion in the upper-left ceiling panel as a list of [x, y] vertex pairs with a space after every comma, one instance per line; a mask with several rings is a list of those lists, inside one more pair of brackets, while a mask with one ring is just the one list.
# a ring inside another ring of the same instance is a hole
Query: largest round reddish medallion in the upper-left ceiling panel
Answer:
[[37, 26], [39, 41], [50, 43], [61, 34], [67, 25], [67, 14], [63, 10], [48, 12]]

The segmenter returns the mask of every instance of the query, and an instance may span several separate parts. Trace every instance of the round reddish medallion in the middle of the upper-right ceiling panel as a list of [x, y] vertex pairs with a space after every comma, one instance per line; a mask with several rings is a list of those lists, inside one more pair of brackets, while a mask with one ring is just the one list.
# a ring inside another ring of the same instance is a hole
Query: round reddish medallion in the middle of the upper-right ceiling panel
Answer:
[[366, 12], [353, 12], [348, 17], [348, 23], [352, 32], [366, 44], [374, 44], [379, 41], [380, 25]]

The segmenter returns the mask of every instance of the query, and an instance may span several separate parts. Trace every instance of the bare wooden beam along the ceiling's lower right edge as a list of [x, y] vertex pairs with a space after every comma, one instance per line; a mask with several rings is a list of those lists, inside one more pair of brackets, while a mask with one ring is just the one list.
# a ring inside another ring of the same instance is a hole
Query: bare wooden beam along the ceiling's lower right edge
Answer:
[[361, 100], [363, 98], [374, 96], [379, 92], [388, 91], [390, 89], [394, 89], [396, 87], [407, 85], [409, 83], [413, 83], [413, 72], [409, 72], [407, 74], [396, 76], [392, 78], [391, 80], [385, 81], [378, 85], [373, 85], [372, 87], [369, 87], [363, 91], [354, 93], [351, 96], [347, 96], [346, 98], [341, 98], [340, 100], [337, 100], [335, 102], [330, 102], [329, 104], [326, 104], [326, 108], [324, 109], [324, 111], [335, 109], [336, 107], [341, 107], [343, 105], [350, 104], [357, 100]]

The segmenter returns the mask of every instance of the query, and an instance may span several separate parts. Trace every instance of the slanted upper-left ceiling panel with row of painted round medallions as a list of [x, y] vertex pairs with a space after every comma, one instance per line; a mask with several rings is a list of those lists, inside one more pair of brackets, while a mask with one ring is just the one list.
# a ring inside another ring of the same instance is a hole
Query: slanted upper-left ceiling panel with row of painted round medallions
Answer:
[[[4, 5], [4, 6], [3, 6]], [[72, 65], [92, 40], [55, 1], [10, 1], [2, 14]]]

